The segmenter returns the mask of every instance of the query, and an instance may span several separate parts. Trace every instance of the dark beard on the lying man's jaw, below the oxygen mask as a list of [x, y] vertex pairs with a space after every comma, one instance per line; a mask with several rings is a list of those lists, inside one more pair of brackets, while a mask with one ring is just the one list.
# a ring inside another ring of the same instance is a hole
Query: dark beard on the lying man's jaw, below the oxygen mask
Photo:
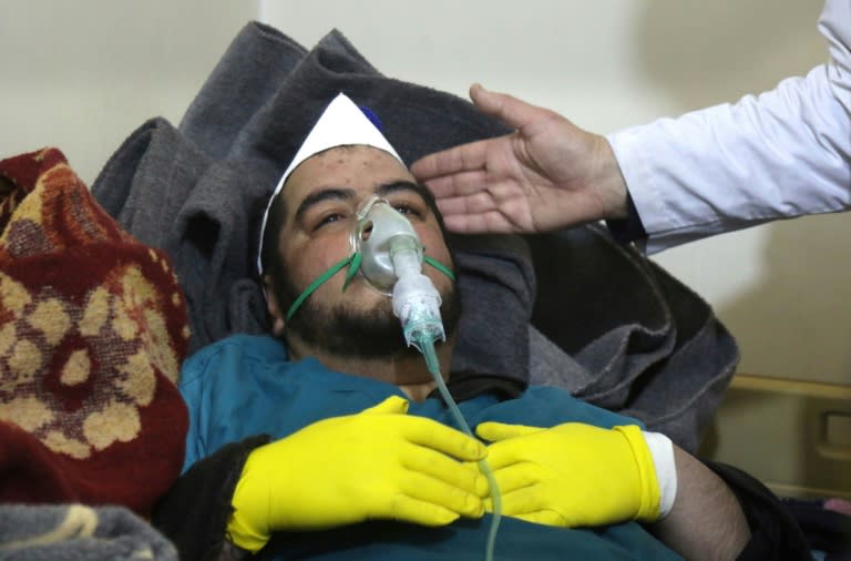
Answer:
[[[275, 282], [275, 296], [283, 304], [281, 309], [288, 309], [299, 294], [288, 278]], [[461, 298], [454, 285], [440, 297], [443, 329], [449, 338], [458, 327]], [[419, 354], [414, 347], [408, 347], [389, 296], [371, 309], [352, 309], [345, 305], [328, 307], [317, 304], [311, 295], [287, 322], [286, 332], [297, 335], [317, 351], [344, 358], [373, 359]], [[286, 337], [286, 332], [281, 338]]]

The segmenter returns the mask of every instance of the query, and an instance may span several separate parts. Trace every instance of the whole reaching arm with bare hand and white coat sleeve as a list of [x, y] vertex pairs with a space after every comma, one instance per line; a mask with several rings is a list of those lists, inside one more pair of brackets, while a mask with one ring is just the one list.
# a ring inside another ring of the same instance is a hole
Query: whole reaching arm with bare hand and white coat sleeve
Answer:
[[427, 155], [411, 171], [434, 193], [447, 226], [460, 233], [534, 233], [627, 218], [628, 187], [637, 227], [616, 237], [646, 231], [650, 253], [777, 218], [848, 210], [848, 1], [828, 0], [819, 29], [831, 61], [807, 78], [606, 137], [475, 84], [476, 106], [515, 131]]

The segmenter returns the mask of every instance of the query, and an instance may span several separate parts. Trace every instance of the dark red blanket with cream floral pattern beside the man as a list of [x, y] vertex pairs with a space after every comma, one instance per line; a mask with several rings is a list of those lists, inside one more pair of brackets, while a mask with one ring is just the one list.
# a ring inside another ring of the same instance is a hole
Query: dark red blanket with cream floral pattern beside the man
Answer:
[[177, 477], [189, 336], [162, 251], [55, 149], [0, 162], [0, 500], [147, 512]]

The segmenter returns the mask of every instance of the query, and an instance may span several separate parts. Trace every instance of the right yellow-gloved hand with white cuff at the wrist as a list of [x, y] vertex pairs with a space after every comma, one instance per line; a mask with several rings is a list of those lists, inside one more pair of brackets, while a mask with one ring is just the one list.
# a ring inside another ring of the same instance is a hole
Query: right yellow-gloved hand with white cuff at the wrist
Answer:
[[[568, 422], [542, 429], [483, 422], [476, 434], [493, 442], [488, 463], [505, 516], [573, 528], [648, 522], [662, 514], [654, 457], [637, 426], [603, 429]], [[670, 440], [667, 446], [669, 456], [660, 456], [670, 463], [663, 472], [674, 478], [676, 493]], [[670, 502], [673, 497], [666, 498]], [[485, 504], [491, 508], [489, 501]]]

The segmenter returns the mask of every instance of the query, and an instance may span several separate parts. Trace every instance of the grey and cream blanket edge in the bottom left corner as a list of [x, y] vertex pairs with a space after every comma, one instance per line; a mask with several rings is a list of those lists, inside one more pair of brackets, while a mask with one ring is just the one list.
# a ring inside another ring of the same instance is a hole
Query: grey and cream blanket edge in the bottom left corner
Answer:
[[177, 561], [177, 550], [122, 507], [0, 506], [0, 560]]

